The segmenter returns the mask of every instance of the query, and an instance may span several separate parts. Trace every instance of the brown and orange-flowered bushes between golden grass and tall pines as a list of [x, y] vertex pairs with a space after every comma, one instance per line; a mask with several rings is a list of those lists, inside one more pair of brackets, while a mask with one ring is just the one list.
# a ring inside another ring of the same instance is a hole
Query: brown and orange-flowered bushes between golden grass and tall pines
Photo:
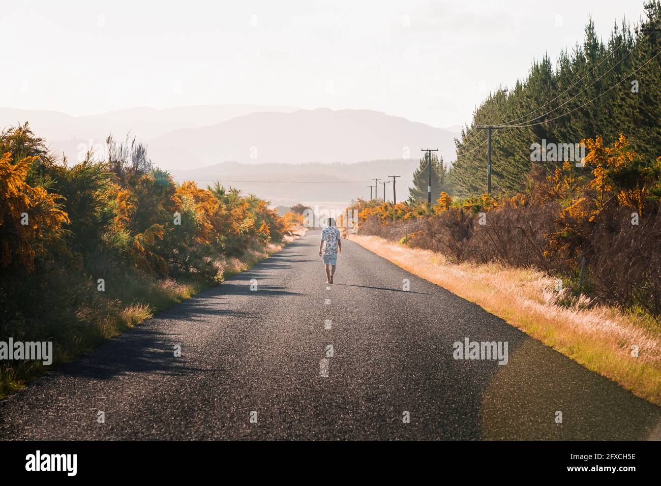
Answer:
[[[564, 302], [661, 315], [661, 157], [639, 156], [624, 136], [586, 140], [585, 167], [565, 162], [529, 175], [527, 190], [453, 200], [431, 208], [357, 200], [360, 233], [442, 253], [449, 261], [534, 266], [559, 278]], [[587, 304], [584, 304], [587, 305]]]

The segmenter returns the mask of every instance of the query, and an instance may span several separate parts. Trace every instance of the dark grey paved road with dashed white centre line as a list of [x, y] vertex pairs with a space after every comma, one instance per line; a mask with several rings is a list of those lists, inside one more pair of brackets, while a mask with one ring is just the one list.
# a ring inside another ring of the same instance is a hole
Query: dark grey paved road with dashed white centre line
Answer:
[[[659, 407], [355, 243], [327, 290], [318, 238], [0, 402], [0, 438], [659, 437]], [[508, 364], [453, 359], [466, 337]]]

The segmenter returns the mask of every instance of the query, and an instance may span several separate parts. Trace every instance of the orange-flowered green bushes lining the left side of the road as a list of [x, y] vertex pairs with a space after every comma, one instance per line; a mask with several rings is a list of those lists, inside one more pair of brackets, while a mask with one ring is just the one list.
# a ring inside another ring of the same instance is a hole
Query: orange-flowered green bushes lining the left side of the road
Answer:
[[[239, 190], [177, 184], [135, 140], [70, 165], [28, 124], [0, 134], [0, 341], [53, 341], [54, 364], [241, 272], [291, 238]], [[0, 397], [47, 371], [0, 363]]]

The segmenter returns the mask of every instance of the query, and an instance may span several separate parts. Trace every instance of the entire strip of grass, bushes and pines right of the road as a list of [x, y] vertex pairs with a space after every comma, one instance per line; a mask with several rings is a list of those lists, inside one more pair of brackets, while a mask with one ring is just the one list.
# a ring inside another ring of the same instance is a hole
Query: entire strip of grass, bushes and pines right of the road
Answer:
[[[645, 9], [660, 26], [661, 2]], [[659, 32], [623, 24], [603, 44], [590, 21], [555, 69], [535, 61], [477, 108], [451, 167], [420, 160], [407, 201], [354, 201], [350, 239], [661, 405], [660, 53]], [[478, 126], [507, 120], [484, 194]], [[531, 161], [547, 143], [586, 154]]]

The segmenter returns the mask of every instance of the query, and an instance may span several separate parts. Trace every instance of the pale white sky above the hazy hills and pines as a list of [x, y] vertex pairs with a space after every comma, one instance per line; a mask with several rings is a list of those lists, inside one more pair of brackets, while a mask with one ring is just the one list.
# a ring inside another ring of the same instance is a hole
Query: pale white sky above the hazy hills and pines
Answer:
[[367, 108], [469, 122], [533, 58], [606, 39], [642, 0], [3, 2], [0, 106], [72, 115], [151, 106]]

